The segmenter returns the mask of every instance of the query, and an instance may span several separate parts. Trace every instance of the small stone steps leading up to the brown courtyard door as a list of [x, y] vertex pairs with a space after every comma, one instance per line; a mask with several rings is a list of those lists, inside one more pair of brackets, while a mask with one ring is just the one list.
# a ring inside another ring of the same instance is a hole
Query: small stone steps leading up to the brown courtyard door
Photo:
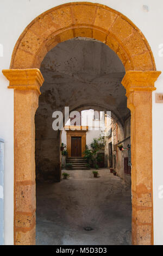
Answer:
[[67, 157], [66, 163], [72, 163], [72, 170], [87, 170], [84, 157]]

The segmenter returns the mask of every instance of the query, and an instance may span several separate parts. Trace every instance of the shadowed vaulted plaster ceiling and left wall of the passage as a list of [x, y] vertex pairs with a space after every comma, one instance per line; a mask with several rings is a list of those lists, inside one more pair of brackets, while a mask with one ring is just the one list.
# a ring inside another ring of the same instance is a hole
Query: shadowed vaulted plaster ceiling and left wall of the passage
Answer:
[[[41, 64], [45, 79], [35, 114], [37, 180], [60, 180], [60, 132], [52, 129], [54, 111], [93, 108], [111, 111], [123, 125], [130, 111], [121, 84], [124, 66], [117, 54], [94, 39], [74, 38], [49, 51]], [[86, 108], [85, 108], [86, 107]]]

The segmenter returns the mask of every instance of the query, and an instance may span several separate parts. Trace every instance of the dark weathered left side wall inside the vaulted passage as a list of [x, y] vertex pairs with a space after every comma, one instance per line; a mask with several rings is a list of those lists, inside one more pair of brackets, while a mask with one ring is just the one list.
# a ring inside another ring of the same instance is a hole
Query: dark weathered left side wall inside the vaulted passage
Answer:
[[36, 179], [39, 180], [60, 180], [60, 136], [52, 129], [54, 109], [53, 95], [45, 90], [40, 95], [35, 114]]

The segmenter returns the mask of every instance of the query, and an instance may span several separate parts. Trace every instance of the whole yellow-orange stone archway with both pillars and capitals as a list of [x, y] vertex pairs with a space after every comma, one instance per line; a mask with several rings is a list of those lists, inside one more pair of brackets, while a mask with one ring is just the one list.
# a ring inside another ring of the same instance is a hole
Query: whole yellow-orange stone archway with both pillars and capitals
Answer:
[[145, 36], [126, 16], [87, 2], [60, 5], [36, 17], [18, 39], [10, 69], [3, 70], [14, 89], [14, 243], [35, 244], [34, 116], [43, 83], [40, 64], [55, 45], [76, 36], [104, 42], [126, 69], [122, 84], [131, 111], [133, 245], [152, 245], [152, 91], [160, 72]]

